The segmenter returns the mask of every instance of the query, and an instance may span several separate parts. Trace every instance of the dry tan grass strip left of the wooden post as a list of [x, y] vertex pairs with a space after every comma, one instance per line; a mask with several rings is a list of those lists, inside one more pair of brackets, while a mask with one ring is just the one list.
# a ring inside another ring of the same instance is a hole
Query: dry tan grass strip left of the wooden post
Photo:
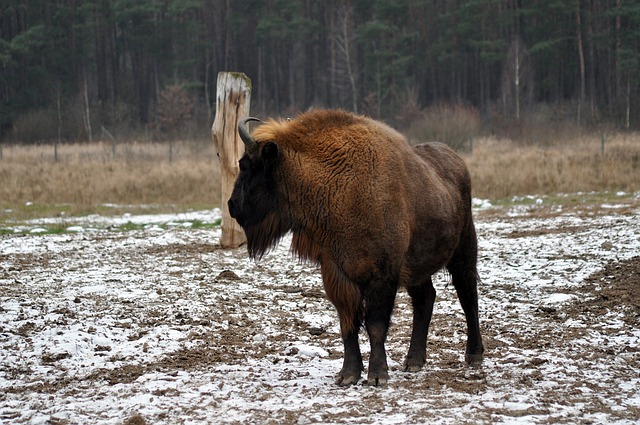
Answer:
[[0, 207], [26, 202], [76, 210], [113, 204], [220, 204], [220, 171], [205, 143], [4, 147]]

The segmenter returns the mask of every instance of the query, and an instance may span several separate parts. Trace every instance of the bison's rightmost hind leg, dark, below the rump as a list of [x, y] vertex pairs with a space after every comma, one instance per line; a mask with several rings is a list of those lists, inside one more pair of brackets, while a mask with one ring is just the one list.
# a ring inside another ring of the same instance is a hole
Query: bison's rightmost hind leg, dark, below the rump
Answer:
[[475, 228], [473, 222], [469, 220], [460, 244], [447, 265], [467, 321], [465, 360], [471, 366], [479, 366], [482, 363], [484, 353], [478, 317], [477, 246]]

